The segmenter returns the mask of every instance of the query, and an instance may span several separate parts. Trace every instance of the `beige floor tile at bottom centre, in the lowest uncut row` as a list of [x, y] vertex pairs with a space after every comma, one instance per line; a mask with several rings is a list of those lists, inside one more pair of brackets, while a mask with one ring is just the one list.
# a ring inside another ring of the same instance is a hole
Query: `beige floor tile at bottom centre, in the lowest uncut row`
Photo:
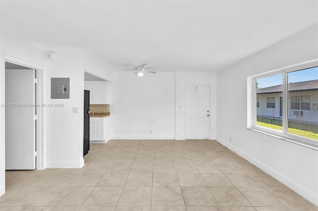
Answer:
[[153, 187], [152, 206], [184, 206], [180, 187]]

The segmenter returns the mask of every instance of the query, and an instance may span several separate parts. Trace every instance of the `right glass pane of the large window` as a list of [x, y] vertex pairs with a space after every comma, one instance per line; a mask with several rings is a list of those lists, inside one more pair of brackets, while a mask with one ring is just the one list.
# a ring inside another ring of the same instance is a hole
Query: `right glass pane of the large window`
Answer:
[[318, 140], [318, 67], [289, 72], [288, 133]]

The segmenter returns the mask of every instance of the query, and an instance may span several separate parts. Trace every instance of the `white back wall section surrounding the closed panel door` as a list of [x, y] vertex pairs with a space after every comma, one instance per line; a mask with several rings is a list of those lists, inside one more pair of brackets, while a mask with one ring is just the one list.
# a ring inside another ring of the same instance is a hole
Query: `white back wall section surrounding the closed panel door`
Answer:
[[[184, 85], [208, 84], [210, 89], [210, 139], [216, 139], [217, 73], [175, 72], [175, 139], [184, 140]], [[179, 108], [181, 107], [181, 109]]]

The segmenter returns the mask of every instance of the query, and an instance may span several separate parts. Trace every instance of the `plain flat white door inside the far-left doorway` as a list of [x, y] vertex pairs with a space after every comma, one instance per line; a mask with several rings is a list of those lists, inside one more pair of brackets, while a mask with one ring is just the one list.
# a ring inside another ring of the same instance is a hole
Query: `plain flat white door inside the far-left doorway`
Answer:
[[35, 169], [34, 94], [34, 70], [5, 70], [5, 169]]

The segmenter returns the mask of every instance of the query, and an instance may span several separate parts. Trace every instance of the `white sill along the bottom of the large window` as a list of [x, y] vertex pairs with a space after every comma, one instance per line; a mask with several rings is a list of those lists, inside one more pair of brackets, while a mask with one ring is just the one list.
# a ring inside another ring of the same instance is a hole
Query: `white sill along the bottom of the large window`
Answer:
[[257, 126], [247, 129], [318, 151], [318, 141], [313, 139], [308, 139], [292, 134], [283, 134], [282, 132]]

